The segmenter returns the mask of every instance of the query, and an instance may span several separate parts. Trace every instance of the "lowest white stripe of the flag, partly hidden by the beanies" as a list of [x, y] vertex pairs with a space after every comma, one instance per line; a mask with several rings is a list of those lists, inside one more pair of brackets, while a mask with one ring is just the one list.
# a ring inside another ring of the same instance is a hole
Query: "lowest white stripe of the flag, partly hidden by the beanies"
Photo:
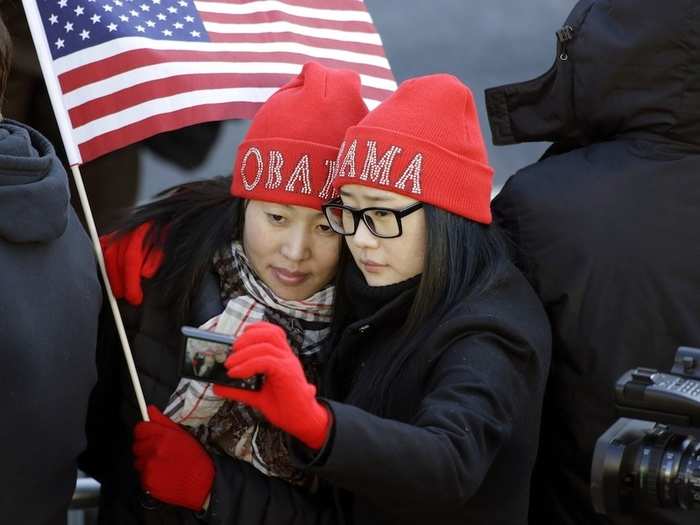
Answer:
[[[95, 119], [88, 124], [75, 128], [73, 136], [78, 144], [82, 144], [104, 133], [109, 133], [122, 127], [135, 124], [147, 118], [194, 106], [224, 104], [231, 101], [263, 103], [270, 95], [277, 91], [277, 89], [278, 88], [203, 89], [157, 98]], [[371, 109], [376, 107], [379, 101], [366, 99], [365, 103]]]

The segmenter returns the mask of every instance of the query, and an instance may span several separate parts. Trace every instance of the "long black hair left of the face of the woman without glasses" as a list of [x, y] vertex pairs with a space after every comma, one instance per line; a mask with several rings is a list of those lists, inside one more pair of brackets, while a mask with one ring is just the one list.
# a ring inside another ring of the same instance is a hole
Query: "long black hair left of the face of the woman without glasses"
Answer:
[[242, 238], [245, 201], [231, 195], [230, 187], [230, 176], [175, 186], [134, 208], [114, 230], [118, 236], [145, 222], [153, 224], [146, 242], [165, 252], [153, 286], [179, 323], [186, 320], [214, 253]]

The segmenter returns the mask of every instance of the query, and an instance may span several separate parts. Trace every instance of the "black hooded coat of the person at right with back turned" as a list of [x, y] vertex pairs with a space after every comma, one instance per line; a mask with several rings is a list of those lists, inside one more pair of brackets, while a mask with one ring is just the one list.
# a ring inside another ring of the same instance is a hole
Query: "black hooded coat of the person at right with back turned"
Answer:
[[493, 206], [553, 330], [532, 522], [697, 523], [596, 517], [589, 478], [615, 380], [700, 346], [700, 5], [585, 0], [566, 24], [567, 60], [486, 97], [496, 144], [554, 142]]

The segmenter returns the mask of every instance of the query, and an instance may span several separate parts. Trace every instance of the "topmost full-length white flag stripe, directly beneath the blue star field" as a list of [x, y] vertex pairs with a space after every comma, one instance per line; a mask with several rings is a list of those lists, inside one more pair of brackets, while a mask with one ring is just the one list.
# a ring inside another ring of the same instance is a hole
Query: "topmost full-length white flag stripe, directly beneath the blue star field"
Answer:
[[183, 42], [151, 40], [143, 37], [125, 37], [118, 41], [105, 42], [94, 47], [76, 51], [70, 55], [57, 58], [54, 70], [57, 75], [72, 69], [110, 58], [112, 56], [137, 49], [201, 51], [201, 52], [239, 52], [239, 53], [296, 53], [315, 58], [328, 58], [353, 64], [376, 66], [391, 71], [389, 61], [382, 56], [342, 51], [338, 49], [313, 47], [296, 42]]

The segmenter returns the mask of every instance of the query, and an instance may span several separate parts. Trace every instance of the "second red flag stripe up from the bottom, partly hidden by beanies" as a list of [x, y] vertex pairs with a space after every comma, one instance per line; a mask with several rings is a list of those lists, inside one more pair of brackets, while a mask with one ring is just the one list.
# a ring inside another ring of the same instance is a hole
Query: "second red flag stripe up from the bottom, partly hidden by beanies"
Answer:
[[[212, 73], [202, 75], [179, 75], [161, 80], [144, 82], [122, 89], [110, 95], [93, 99], [76, 106], [68, 112], [74, 128], [95, 119], [111, 115], [131, 106], [154, 98], [187, 93], [198, 89], [226, 89], [232, 87], [277, 87], [290, 80], [293, 75], [241, 75], [236, 73]], [[362, 86], [362, 96], [373, 100], [384, 100], [390, 91]]]

